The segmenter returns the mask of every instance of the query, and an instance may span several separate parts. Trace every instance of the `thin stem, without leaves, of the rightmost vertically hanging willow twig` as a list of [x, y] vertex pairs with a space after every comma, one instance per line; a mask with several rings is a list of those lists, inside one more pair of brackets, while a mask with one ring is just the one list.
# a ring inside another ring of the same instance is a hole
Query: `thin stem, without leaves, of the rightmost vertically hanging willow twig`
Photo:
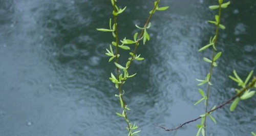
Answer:
[[[218, 39], [218, 33], [219, 33], [219, 25], [220, 25], [220, 18], [221, 18], [221, 4], [219, 4], [219, 20], [218, 20], [218, 24], [216, 26], [216, 32], [215, 32], [215, 41], [214, 41], [214, 46], [216, 47], [217, 44], [217, 39]], [[210, 64], [210, 76], [209, 76], [209, 82], [211, 81], [211, 75], [212, 75], [212, 71], [214, 68], [214, 57], [215, 57], [215, 48], [212, 48], [212, 57], [211, 57], [211, 64]], [[204, 120], [204, 135], [206, 135], [206, 113], [208, 110], [208, 100], [209, 100], [209, 96], [210, 96], [210, 84], [207, 85], [207, 99], [206, 99], [206, 106], [205, 106], [205, 120]]]

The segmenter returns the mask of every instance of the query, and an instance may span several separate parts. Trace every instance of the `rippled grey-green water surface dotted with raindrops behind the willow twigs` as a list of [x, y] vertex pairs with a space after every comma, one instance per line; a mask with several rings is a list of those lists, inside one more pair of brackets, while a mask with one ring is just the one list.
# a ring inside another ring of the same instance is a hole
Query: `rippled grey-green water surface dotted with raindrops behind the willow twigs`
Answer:
[[[120, 37], [131, 37], [142, 26], [154, 1], [120, 1], [127, 10], [119, 18]], [[140, 135], [196, 135], [196, 124], [165, 132], [153, 124], [173, 128], [203, 114], [198, 83], [209, 65], [197, 50], [208, 43], [215, 28], [206, 20], [215, 13], [215, 1], [161, 1], [170, 6], [152, 19], [152, 36], [135, 62], [137, 72], [124, 86]], [[232, 97], [236, 83], [228, 79], [237, 70], [245, 78], [256, 71], [256, 3], [231, 1], [223, 10], [225, 31], [218, 49], [223, 52], [214, 69], [210, 104]], [[0, 135], [76, 136], [126, 135], [117, 90], [108, 78], [114, 65], [104, 55], [113, 40], [96, 28], [108, 27], [109, 1], [0, 0]], [[254, 74], [255, 75], [255, 74]], [[251, 135], [256, 131], [256, 99], [223, 107], [208, 120], [208, 135]]]

